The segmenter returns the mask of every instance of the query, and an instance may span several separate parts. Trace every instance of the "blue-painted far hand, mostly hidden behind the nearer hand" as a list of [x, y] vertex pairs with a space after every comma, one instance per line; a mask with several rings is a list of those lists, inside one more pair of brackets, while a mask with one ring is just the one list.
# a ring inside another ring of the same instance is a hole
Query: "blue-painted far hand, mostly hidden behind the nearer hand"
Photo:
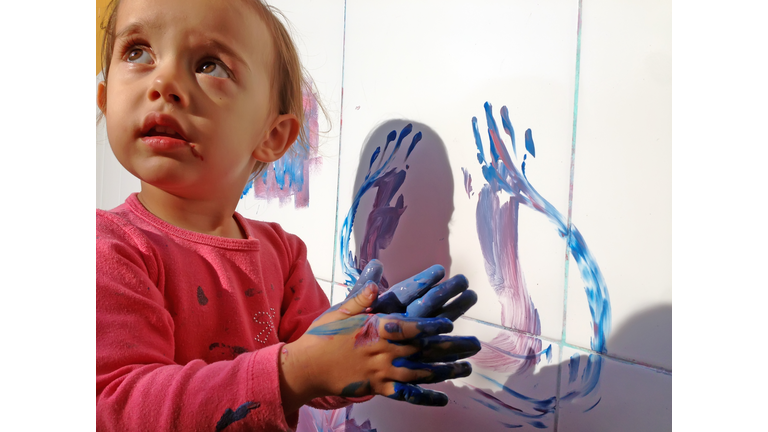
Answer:
[[[356, 296], [368, 282], [378, 284], [382, 273], [381, 261], [371, 260], [360, 273], [347, 300]], [[399, 282], [376, 299], [370, 312], [399, 313], [411, 318], [440, 317], [455, 321], [477, 302], [477, 294], [467, 289], [469, 281], [464, 275], [456, 275], [435, 286], [444, 276], [443, 266], [434, 265]]]

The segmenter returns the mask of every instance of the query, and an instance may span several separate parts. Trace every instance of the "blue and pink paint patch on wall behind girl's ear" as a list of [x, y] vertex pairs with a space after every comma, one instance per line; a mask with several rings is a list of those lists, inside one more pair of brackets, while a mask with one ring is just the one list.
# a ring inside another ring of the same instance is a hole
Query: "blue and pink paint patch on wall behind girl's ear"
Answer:
[[252, 193], [258, 199], [278, 200], [286, 205], [293, 199], [296, 208], [309, 206], [309, 173], [322, 164], [317, 153], [318, 103], [314, 94], [304, 92], [304, 139], [299, 139], [280, 159], [270, 163], [260, 176], [248, 182], [240, 198]]

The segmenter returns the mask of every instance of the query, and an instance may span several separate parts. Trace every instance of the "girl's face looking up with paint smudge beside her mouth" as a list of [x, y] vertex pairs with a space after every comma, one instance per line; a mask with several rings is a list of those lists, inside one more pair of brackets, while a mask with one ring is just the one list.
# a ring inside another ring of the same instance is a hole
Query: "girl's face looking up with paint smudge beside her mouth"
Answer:
[[239, 193], [276, 113], [272, 39], [243, 1], [123, 0], [109, 86], [118, 161], [166, 192]]

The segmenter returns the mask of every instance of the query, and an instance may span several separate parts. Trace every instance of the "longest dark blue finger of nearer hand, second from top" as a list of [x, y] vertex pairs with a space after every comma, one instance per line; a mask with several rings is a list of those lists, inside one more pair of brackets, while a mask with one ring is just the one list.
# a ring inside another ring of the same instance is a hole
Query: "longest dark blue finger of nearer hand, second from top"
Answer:
[[430, 336], [402, 342], [417, 349], [407, 360], [424, 363], [445, 363], [472, 357], [482, 348], [474, 336]]

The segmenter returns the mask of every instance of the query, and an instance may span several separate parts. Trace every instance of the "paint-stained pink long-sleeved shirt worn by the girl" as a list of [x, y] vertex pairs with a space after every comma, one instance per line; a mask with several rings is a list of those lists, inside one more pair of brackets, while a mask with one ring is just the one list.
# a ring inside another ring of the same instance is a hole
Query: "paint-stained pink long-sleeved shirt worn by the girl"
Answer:
[[170, 225], [136, 194], [96, 210], [98, 430], [296, 427], [281, 405], [279, 350], [330, 305], [298, 237], [234, 216], [247, 239]]

